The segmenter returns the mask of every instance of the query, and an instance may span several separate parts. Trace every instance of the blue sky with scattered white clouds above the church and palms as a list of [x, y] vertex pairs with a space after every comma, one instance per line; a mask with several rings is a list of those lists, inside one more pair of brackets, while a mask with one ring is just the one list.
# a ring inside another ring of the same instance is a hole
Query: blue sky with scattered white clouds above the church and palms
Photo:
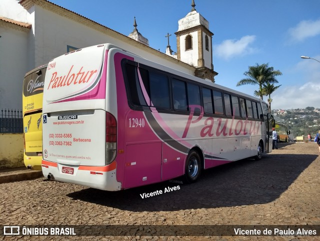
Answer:
[[[50, 1], [50, 0], [49, 0]], [[191, 10], [191, 0], [51, 0], [50, 2], [128, 35], [133, 17], [153, 49], [165, 51], [167, 33], [176, 51], [178, 20]], [[257, 86], [236, 87], [248, 66], [268, 63], [282, 72], [272, 95], [272, 109], [320, 108], [319, 0], [195, 0], [195, 9], [214, 34], [215, 83], [253, 95]], [[264, 100], [267, 97], [263, 98]]]

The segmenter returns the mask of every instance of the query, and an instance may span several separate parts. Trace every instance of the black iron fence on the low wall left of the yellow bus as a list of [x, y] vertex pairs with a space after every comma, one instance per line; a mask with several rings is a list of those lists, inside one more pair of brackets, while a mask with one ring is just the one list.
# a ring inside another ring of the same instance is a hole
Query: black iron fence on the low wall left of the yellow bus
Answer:
[[1, 109], [0, 133], [23, 133], [22, 110]]

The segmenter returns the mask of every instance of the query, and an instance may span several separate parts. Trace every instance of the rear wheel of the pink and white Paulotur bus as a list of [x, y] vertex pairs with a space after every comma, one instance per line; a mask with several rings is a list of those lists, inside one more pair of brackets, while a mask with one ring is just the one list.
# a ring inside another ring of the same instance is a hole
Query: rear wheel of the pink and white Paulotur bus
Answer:
[[195, 182], [201, 173], [201, 158], [195, 150], [191, 150], [185, 161], [184, 179], [187, 183]]

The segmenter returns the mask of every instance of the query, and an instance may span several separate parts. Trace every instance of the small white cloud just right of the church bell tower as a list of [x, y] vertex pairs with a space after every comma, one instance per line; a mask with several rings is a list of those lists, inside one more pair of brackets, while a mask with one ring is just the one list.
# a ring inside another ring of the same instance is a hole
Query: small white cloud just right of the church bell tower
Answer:
[[244, 36], [240, 40], [224, 40], [220, 45], [214, 46], [214, 54], [228, 60], [236, 56], [254, 53], [256, 49], [249, 46], [254, 40], [254, 35]]

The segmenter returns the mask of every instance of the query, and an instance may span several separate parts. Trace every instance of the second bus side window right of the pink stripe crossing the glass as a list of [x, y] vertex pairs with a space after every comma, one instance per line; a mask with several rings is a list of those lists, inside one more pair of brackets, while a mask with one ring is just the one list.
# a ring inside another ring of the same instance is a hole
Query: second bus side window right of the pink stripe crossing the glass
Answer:
[[173, 107], [175, 110], [187, 111], [185, 82], [172, 79]]

